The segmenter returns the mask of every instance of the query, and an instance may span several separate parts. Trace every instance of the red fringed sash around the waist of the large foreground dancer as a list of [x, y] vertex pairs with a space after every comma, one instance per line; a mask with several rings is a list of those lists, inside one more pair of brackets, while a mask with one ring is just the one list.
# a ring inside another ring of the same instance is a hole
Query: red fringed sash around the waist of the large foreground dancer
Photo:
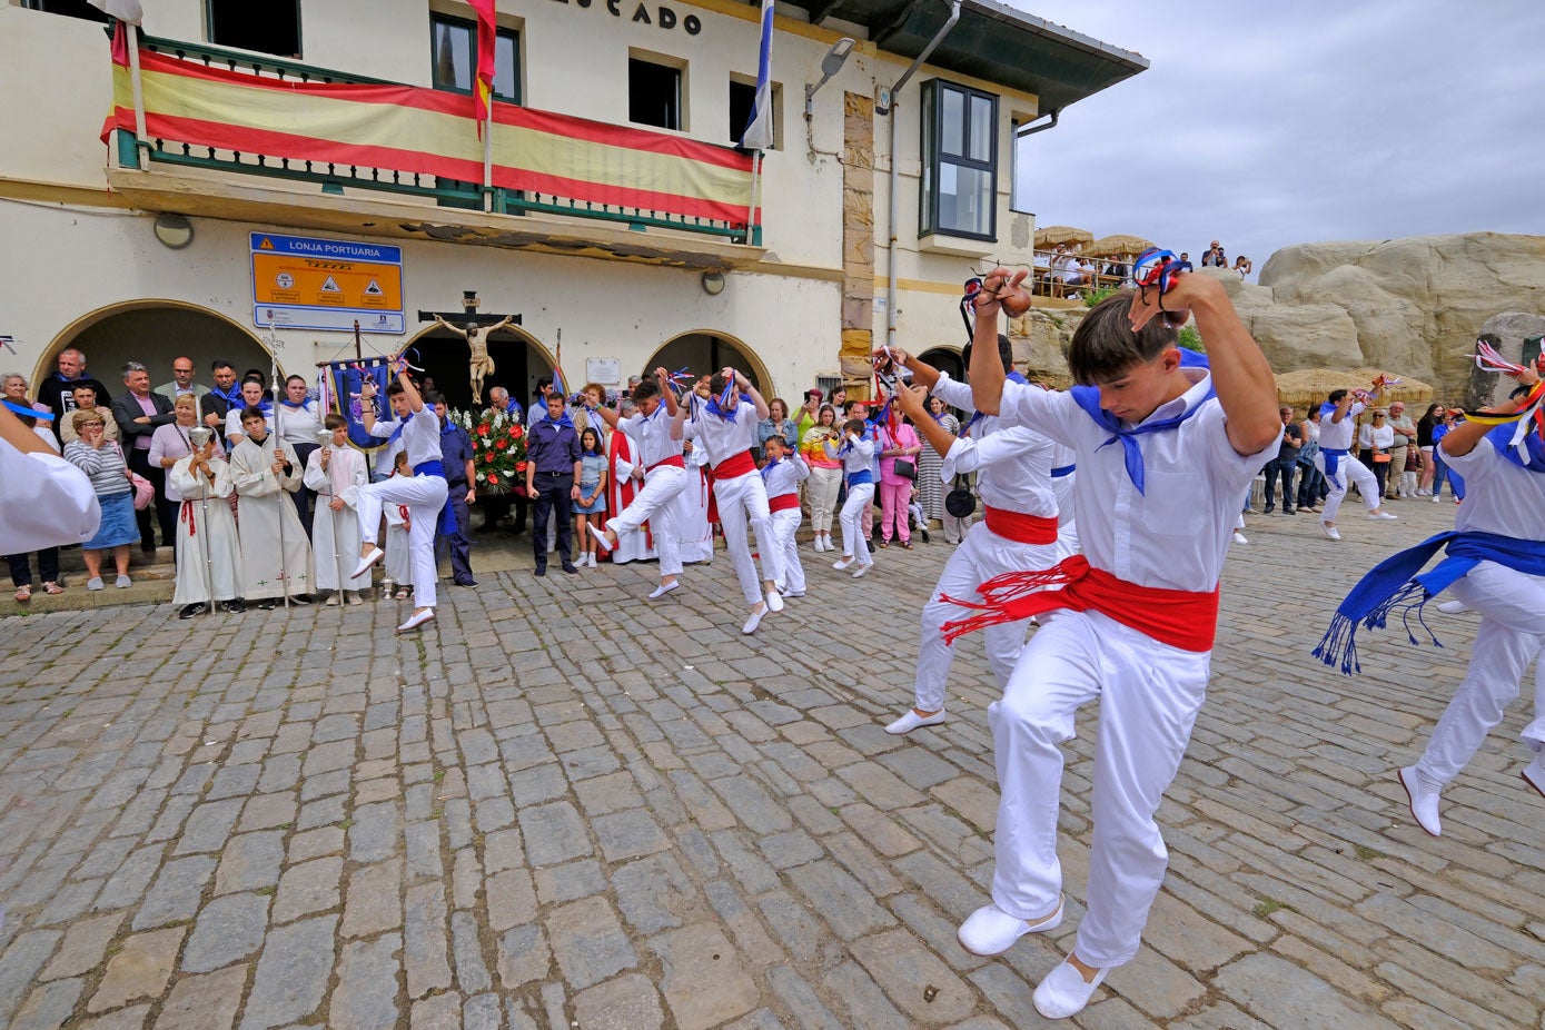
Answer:
[[[1061, 585], [1061, 590], [1046, 587]], [[1217, 588], [1211, 593], [1140, 587], [1117, 579], [1103, 568], [1091, 568], [1083, 554], [1066, 557], [1041, 571], [1004, 573], [976, 588], [984, 604], [958, 601], [939, 595], [942, 601], [981, 615], [944, 624], [944, 642], [975, 630], [1027, 619], [1043, 612], [1072, 608], [1098, 612], [1139, 633], [1180, 650], [1205, 653], [1217, 636]]]

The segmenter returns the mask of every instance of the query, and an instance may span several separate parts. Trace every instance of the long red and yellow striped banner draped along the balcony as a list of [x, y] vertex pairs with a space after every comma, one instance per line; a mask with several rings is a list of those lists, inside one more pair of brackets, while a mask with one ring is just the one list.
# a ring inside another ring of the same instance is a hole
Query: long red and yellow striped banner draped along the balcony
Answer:
[[[287, 82], [141, 49], [145, 130], [168, 144], [482, 182], [467, 97], [403, 85]], [[134, 131], [127, 54], [114, 128]], [[493, 105], [493, 184], [581, 202], [743, 225], [751, 156], [640, 128]]]

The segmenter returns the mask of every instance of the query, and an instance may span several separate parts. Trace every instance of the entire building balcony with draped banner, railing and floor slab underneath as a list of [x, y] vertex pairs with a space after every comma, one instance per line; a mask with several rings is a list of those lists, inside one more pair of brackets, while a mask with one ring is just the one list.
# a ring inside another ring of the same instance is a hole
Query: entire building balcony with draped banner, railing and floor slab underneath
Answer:
[[108, 182], [147, 210], [705, 270], [765, 253], [729, 147], [499, 100], [482, 139], [457, 93], [154, 37], [113, 54]]

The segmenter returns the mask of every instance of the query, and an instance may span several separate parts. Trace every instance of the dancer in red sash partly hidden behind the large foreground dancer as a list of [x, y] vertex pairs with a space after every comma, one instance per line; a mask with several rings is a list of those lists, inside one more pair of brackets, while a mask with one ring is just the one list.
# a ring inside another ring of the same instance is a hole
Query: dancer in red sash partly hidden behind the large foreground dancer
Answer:
[[[993, 341], [998, 360], [1017, 383], [1024, 377], [1014, 372], [1014, 351], [1009, 338]], [[967, 344], [967, 351], [975, 344]], [[933, 599], [922, 605], [922, 642], [918, 647], [918, 675], [913, 707], [885, 727], [887, 734], [910, 734], [919, 726], [944, 721], [944, 683], [950, 675], [955, 649], [944, 642], [941, 627], [959, 615], [950, 598], [972, 599], [986, 581], [1001, 573], [1051, 568], [1066, 554], [1057, 545], [1057, 497], [1052, 493], [1052, 462], [1057, 445], [1034, 429], [1004, 429], [993, 415], [983, 415], [972, 426], [973, 437], [956, 440], [927, 415], [922, 405], [932, 389], [953, 408], [970, 409], [970, 386], [958, 383], [899, 347], [891, 357], [912, 371], [918, 386], [901, 385], [896, 400], [918, 432], [944, 456], [944, 482], [976, 473], [976, 491], [986, 507], [986, 519], [973, 525], [961, 545], [944, 564], [944, 573], [933, 588]], [[972, 357], [967, 352], [966, 360]], [[1014, 662], [1024, 647], [1024, 625], [1003, 622], [986, 632], [987, 664], [998, 687], [1009, 686]]]

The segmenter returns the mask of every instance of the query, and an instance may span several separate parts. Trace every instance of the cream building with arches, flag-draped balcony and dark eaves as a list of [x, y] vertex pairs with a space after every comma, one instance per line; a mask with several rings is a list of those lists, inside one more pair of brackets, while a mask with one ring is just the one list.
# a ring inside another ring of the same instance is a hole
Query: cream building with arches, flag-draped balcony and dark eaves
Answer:
[[[294, 23], [241, 0], [144, 6], [136, 74], [82, 0], [0, 0], [0, 334], [19, 349], [0, 368], [34, 388], [68, 346], [110, 388], [125, 360], [167, 381], [179, 354], [204, 383], [213, 358], [309, 377], [352, 354], [362, 317], [366, 354], [414, 346], [465, 405], [467, 344], [417, 317], [460, 310], [464, 292], [521, 315], [490, 341], [490, 385], [522, 400], [559, 332], [572, 386], [725, 363], [769, 395], [817, 375], [857, 386], [887, 330], [958, 352], [963, 280], [986, 259], [1029, 264], [1034, 215], [1010, 201], [1015, 174], [1034, 196], [1035, 168], [1014, 167], [1015, 133], [1146, 68], [990, 0], [780, 3], [774, 147], [748, 227], [723, 215], [740, 204], [726, 182], [749, 184], [731, 147], [756, 85], [757, 6], [499, 0], [491, 167], [527, 178], [491, 174], [487, 190], [468, 5], [294, 0]], [[823, 79], [844, 37], [851, 53]], [[307, 162], [307, 147], [343, 159]], [[460, 178], [443, 174], [451, 161]], [[723, 174], [697, 182], [703, 168]], [[570, 190], [576, 176], [635, 205]], [[657, 208], [660, 176], [686, 185]], [[691, 215], [700, 202], [722, 216]], [[270, 238], [323, 244], [298, 244], [315, 258], [300, 272], [255, 255]], [[400, 287], [377, 281], [396, 275]]]

